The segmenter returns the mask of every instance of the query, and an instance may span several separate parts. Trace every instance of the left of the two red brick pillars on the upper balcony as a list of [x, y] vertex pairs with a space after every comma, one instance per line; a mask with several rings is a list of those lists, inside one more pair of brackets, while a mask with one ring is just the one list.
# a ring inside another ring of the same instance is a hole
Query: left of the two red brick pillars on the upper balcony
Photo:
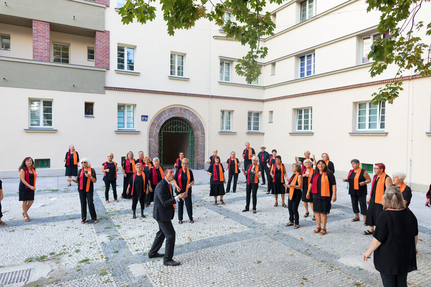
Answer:
[[49, 62], [49, 39], [49, 23], [33, 20], [33, 60]]

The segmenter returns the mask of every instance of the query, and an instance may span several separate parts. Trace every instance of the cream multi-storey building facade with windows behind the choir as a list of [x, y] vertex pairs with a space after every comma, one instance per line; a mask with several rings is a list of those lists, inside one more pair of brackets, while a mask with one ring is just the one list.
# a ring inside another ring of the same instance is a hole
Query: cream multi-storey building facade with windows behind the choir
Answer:
[[[0, 69], [0, 177], [17, 176], [17, 166], [28, 155], [50, 160], [50, 168], [39, 169], [41, 175], [61, 175], [71, 143], [95, 167], [106, 160], [108, 152], [114, 153], [117, 162], [129, 150], [154, 156], [160, 147], [154, 146], [157, 139], [150, 138], [151, 124], [164, 110], [184, 107], [205, 130], [205, 160], [214, 149], [223, 162], [231, 151], [240, 156], [248, 141], [256, 151], [262, 144], [269, 152], [277, 149], [285, 163], [305, 150], [317, 159], [327, 152], [337, 177], [345, 177], [350, 160], [358, 158], [371, 165], [384, 162], [388, 174], [404, 171], [415, 190], [425, 190], [429, 184], [422, 162], [431, 160], [431, 79], [405, 78], [404, 91], [394, 104], [370, 109], [371, 94], [396, 69], [369, 76], [371, 63], [362, 60], [364, 41], [377, 33], [379, 15], [366, 13], [363, 1], [317, 0], [311, 17], [304, 21], [300, 1], [268, 7], [276, 34], [261, 41], [269, 53], [261, 61], [262, 75], [256, 84], [247, 84], [235, 73], [236, 59], [245, 54], [246, 47], [226, 39], [220, 27], [207, 20], [169, 37], [160, 11], [146, 25], [123, 25], [116, 1], [106, 8], [90, 1], [62, 2], [70, 2], [72, 7], [79, 4], [84, 12], [58, 8], [62, 19], [41, 16], [31, 7], [25, 15], [0, 10], [0, 16], [7, 15], [5, 20], [0, 17], [0, 36], [10, 37], [10, 50], [0, 49], [0, 65], [8, 67]], [[21, 6], [29, 6], [26, 3], [20, 1]], [[90, 12], [99, 16], [87, 23], [80, 18], [75, 28], [70, 27], [67, 17], [85, 17]], [[419, 17], [430, 14], [431, 5], [423, 4]], [[50, 62], [32, 60], [32, 27], [22, 17], [51, 23]], [[87, 54], [96, 45], [95, 32], [102, 30], [110, 32], [109, 69], [97, 67]], [[53, 44], [68, 46], [69, 63], [53, 63]], [[133, 71], [118, 67], [118, 46], [133, 50]], [[177, 57], [174, 75], [171, 54]], [[305, 61], [306, 74], [301, 77], [301, 57], [307, 60], [307, 55], [314, 67], [309, 67], [311, 75], [307, 76]], [[183, 73], [176, 75], [179, 59]], [[32, 127], [32, 100], [41, 100], [43, 105], [44, 99], [52, 103], [52, 126]], [[90, 117], [85, 116], [86, 102], [93, 103]], [[133, 107], [133, 128], [119, 127], [118, 105]], [[311, 109], [312, 125], [309, 121], [306, 129], [298, 115]], [[231, 114], [227, 130], [220, 124], [221, 111]], [[257, 130], [248, 130], [249, 112], [259, 115]], [[148, 116], [148, 121], [141, 122], [141, 115]]]

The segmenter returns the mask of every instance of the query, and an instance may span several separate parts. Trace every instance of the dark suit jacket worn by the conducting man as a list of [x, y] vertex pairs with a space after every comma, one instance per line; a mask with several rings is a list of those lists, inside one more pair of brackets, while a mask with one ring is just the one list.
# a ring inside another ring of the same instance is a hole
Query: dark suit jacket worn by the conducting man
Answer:
[[[173, 196], [173, 190], [172, 190]], [[153, 208], [153, 218], [157, 221], [170, 221], [173, 219], [174, 209], [173, 204], [175, 204], [175, 197], [171, 197], [169, 192], [169, 184], [163, 179], [161, 180], [154, 190], [154, 208]]]

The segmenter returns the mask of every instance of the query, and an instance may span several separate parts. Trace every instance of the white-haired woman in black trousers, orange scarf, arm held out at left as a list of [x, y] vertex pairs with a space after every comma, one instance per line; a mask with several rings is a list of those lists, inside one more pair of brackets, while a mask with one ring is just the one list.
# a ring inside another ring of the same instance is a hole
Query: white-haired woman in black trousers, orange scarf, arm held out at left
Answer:
[[93, 184], [96, 182], [96, 171], [91, 168], [90, 161], [86, 158], [81, 159], [81, 166], [82, 168], [78, 170], [78, 179], [68, 179], [67, 181], [78, 184], [78, 193], [81, 201], [81, 224], [87, 221], [87, 205], [91, 219], [94, 223], [97, 223], [96, 209], [93, 202]]

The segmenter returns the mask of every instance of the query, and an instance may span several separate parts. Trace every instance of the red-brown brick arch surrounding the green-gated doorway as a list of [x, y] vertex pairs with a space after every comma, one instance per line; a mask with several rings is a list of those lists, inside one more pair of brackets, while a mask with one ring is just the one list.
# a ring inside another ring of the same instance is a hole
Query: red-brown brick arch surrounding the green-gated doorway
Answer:
[[170, 107], [156, 114], [148, 130], [148, 155], [150, 158], [159, 156], [159, 132], [162, 125], [170, 118], [185, 120], [193, 130], [193, 166], [194, 169], [204, 169], [205, 164], [205, 129], [199, 117], [185, 107]]

